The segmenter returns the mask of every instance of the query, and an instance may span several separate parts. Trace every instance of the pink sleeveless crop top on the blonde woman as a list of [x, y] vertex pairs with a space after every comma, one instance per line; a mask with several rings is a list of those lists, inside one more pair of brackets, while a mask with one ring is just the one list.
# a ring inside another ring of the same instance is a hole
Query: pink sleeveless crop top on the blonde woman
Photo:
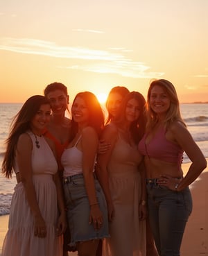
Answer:
[[138, 148], [142, 155], [153, 157], [164, 162], [181, 163], [183, 150], [178, 144], [166, 139], [166, 130], [159, 128], [153, 139], [146, 144], [146, 137], [139, 142]]

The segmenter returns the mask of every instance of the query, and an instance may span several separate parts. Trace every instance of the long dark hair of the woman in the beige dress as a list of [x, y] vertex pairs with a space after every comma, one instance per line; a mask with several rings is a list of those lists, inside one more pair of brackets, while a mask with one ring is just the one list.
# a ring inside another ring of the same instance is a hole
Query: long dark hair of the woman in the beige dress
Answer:
[[146, 101], [144, 96], [139, 92], [129, 92], [123, 98], [121, 102], [121, 106], [119, 109], [118, 115], [112, 120], [116, 124], [116, 126], [122, 126], [126, 121], [125, 117], [125, 109], [128, 105], [128, 101], [131, 99], [135, 99], [139, 103], [139, 117], [137, 120], [133, 121], [130, 124], [130, 133], [135, 143], [138, 143], [141, 137], [143, 137], [146, 127], [146, 115], [145, 115], [145, 105]]

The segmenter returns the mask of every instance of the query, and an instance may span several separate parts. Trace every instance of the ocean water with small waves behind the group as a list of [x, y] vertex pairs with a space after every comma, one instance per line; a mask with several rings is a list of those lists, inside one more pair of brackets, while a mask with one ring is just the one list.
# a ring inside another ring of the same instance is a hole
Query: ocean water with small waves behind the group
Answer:
[[[21, 103], [0, 103], [0, 164], [5, 152], [4, 142], [8, 137], [10, 123], [21, 105]], [[208, 157], [208, 104], [181, 104], [180, 109], [193, 139], [205, 157]], [[190, 162], [186, 154], [183, 162]], [[15, 184], [15, 176], [8, 180], [0, 173], [0, 216], [9, 214]]]

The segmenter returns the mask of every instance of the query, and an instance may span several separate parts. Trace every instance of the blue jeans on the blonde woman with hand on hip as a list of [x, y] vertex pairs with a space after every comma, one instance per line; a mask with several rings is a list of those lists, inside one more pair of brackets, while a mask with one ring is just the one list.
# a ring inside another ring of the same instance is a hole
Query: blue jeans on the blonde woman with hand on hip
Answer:
[[192, 210], [189, 187], [172, 191], [147, 183], [150, 227], [159, 256], [180, 256], [184, 229]]

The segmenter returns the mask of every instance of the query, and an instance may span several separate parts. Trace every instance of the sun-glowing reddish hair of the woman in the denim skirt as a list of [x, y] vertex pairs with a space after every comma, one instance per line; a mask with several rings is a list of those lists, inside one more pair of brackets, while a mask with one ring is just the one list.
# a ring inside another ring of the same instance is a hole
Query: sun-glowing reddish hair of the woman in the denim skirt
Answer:
[[[96, 96], [92, 92], [79, 92], [76, 94], [71, 108], [73, 108], [73, 104], [76, 101], [76, 98], [80, 97], [85, 101], [85, 105], [87, 107], [87, 110], [89, 112], [89, 120], [88, 120], [88, 126], [91, 126], [96, 130], [96, 133], [98, 134], [98, 137], [101, 135], [101, 132], [104, 128], [104, 114], [103, 110], [101, 108], [101, 105], [96, 98]], [[78, 133], [78, 123], [76, 123], [73, 120], [73, 117], [71, 119], [71, 139]]]

